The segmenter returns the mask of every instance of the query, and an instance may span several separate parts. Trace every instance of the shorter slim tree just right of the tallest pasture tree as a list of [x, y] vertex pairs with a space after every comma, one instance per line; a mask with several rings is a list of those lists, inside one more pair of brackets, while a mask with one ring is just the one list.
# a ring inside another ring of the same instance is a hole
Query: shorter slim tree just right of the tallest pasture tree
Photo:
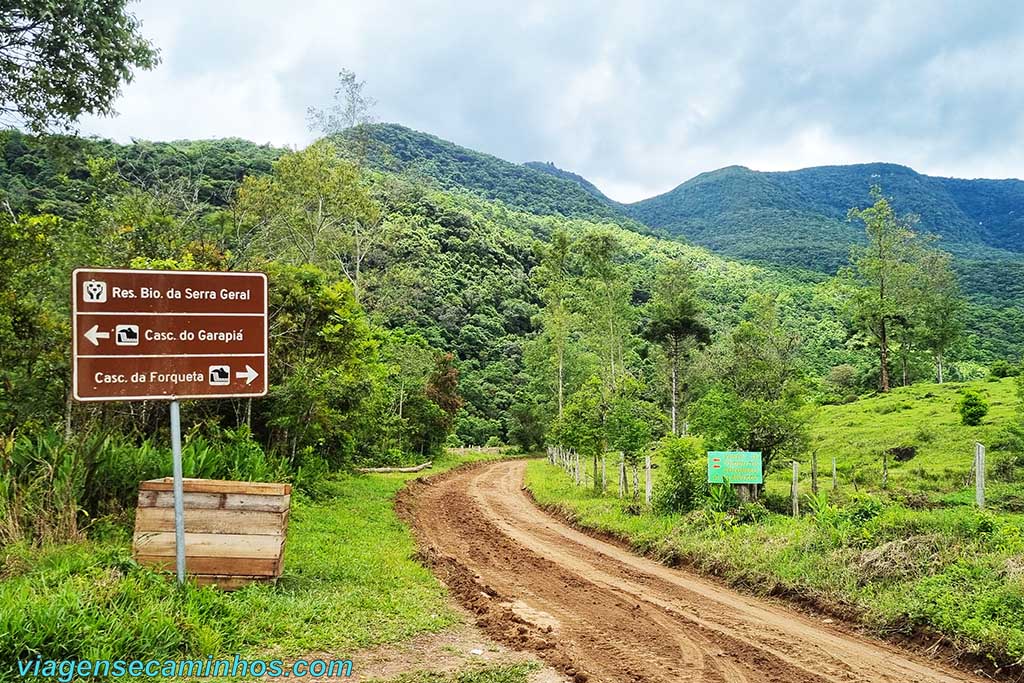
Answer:
[[929, 250], [921, 259], [921, 339], [931, 351], [939, 384], [946, 351], [964, 331], [966, 302], [952, 268], [952, 257]]

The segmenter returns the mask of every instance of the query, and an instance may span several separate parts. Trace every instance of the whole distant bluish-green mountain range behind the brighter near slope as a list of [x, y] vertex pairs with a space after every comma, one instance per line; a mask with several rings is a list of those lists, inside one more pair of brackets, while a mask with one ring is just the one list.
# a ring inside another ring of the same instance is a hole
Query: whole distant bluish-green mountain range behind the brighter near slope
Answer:
[[835, 273], [863, 242], [847, 220], [880, 185], [899, 213], [955, 255], [965, 291], [997, 307], [1024, 301], [1024, 181], [961, 180], [895, 164], [759, 172], [730, 166], [634, 204], [609, 200], [586, 178], [552, 163], [516, 165], [402, 126], [364, 126], [378, 168], [441, 188], [462, 188], [538, 215], [615, 221], [675, 237], [724, 256]]

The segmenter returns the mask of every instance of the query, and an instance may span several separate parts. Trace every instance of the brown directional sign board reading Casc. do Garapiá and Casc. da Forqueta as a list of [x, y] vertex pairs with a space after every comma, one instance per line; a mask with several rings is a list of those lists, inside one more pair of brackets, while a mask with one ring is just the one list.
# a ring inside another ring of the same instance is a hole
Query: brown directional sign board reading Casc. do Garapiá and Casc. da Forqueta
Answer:
[[110, 270], [72, 274], [78, 400], [266, 393], [266, 275]]

